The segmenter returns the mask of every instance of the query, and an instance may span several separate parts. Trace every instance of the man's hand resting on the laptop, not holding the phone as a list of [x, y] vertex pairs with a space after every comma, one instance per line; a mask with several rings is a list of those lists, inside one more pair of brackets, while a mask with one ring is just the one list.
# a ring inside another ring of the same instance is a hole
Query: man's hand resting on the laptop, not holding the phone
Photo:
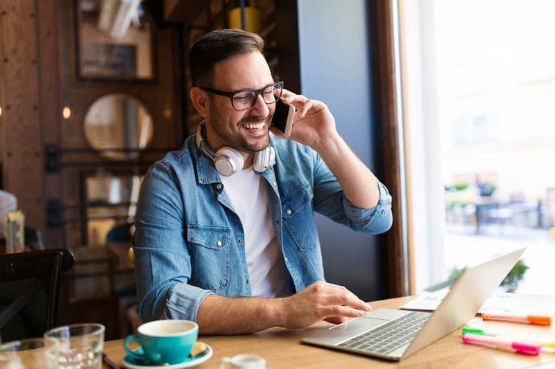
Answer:
[[343, 323], [364, 316], [372, 309], [343, 286], [314, 282], [302, 291], [282, 299], [282, 327], [303, 328], [318, 321]]

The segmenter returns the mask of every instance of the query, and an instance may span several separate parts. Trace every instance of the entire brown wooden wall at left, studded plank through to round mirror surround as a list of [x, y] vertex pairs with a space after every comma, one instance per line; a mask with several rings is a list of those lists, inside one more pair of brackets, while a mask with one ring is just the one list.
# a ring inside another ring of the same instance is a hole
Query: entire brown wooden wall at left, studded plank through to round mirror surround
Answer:
[[[82, 240], [83, 172], [143, 172], [165, 152], [180, 147], [185, 137], [180, 26], [154, 27], [151, 80], [85, 80], [76, 73], [76, 4], [0, 2], [1, 182], [17, 197], [26, 225], [40, 230], [46, 247], [75, 247]], [[153, 117], [151, 145], [134, 160], [114, 163], [91, 150], [85, 138], [87, 109], [107, 93], [137, 98]], [[71, 109], [69, 118], [62, 118], [64, 107]], [[46, 145], [56, 147], [58, 154], [48, 156]], [[46, 170], [45, 161], [52, 157], [58, 168]], [[58, 226], [49, 222], [52, 201], [61, 208]]]

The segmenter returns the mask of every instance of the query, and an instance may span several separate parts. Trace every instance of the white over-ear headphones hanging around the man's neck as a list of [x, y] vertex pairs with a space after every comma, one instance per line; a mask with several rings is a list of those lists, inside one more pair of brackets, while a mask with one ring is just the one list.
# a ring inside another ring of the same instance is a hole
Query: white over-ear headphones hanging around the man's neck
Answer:
[[[229, 177], [237, 170], [243, 169], [244, 159], [243, 155], [233, 147], [224, 146], [214, 154], [210, 147], [204, 142], [203, 134], [205, 132], [205, 122], [198, 125], [196, 130], [196, 147], [203, 152], [207, 158], [212, 159], [214, 167], [219, 174]], [[253, 159], [253, 169], [255, 172], [264, 172], [275, 164], [275, 151], [273, 147], [268, 146], [264, 150], [255, 152]]]

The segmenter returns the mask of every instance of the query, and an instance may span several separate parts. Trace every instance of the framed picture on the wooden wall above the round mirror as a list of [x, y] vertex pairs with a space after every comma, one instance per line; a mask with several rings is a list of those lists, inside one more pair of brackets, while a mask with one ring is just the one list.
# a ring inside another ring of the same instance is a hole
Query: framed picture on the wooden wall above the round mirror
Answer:
[[139, 0], [75, 0], [78, 79], [152, 80], [153, 33]]

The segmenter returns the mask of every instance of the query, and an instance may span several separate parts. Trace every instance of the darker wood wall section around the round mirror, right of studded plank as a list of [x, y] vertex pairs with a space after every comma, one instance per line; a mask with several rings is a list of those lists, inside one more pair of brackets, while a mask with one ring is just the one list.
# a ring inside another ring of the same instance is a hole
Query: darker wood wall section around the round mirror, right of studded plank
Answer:
[[[78, 219], [85, 212], [80, 199], [83, 191], [80, 178], [83, 175], [142, 174], [151, 163], [161, 159], [167, 151], [178, 149], [185, 138], [183, 123], [182, 46], [180, 28], [162, 25], [153, 28], [153, 78], [148, 80], [110, 80], [83, 78], [77, 75], [76, 3], [73, 0], [58, 0], [60, 4], [60, 104], [71, 108], [71, 118], [62, 120], [59, 147], [62, 150], [63, 196], [62, 216], [65, 222], [66, 243], [70, 246], [85, 243]], [[108, 93], [125, 93], [139, 100], [153, 118], [154, 134], [148, 149], [134, 159], [114, 161], [99, 152], [90, 150], [85, 137], [83, 122], [90, 105]], [[117, 219], [117, 223], [123, 222]]]

